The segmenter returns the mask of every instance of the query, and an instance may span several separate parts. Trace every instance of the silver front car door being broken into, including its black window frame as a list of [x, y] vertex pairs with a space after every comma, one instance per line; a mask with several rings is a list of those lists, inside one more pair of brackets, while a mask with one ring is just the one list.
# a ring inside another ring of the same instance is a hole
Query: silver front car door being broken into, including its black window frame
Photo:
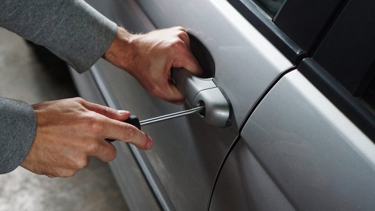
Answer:
[[[216, 99], [223, 95], [229, 103], [230, 127], [210, 125], [199, 115], [146, 126], [143, 130], [155, 141], [153, 149], [144, 152], [115, 143], [118, 158], [111, 163], [130, 208], [204, 210], [210, 204], [215, 182], [222, 184], [217, 180], [218, 171], [235, 143], [241, 140], [240, 132], [246, 128], [249, 115], [261, 105], [276, 82], [283, 81], [284, 75], [295, 71], [303, 58], [314, 53], [344, 1], [308, 4], [296, 0], [87, 2], [132, 32], [182, 25], [187, 28], [197, 51], [206, 52], [195, 56], [220, 90], [210, 96]], [[317, 11], [319, 16], [315, 15]], [[79, 78], [75, 75], [75, 80], [86, 78], [90, 82], [87, 86], [81, 85], [83, 96], [95, 96], [93, 101], [128, 109], [140, 119], [190, 107], [152, 98], [123, 70], [103, 60]], [[101, 96], [93, 91], [95, 88]], [[258, 163], [262, 167], [262, 162]], [[273, 188], [278, 185], [270, 177], [265, 187], [271, 187], [272, 183]], [[275, 194], [288, 208], [290, 201], [284, 200], [282, 193]]]

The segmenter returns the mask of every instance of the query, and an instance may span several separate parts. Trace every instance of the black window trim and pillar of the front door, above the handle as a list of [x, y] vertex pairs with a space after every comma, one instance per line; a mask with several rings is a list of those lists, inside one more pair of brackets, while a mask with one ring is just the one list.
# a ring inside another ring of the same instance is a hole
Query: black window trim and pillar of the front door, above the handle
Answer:
[[[252, 0], [228, 0], [260, 33], [279, 49], [293, 64], [312, 55], [314, 47], [320, 42], [330, 24], [348, 0], [310, 0], [310, 5], [299, 8], [309, 1], [286, 0], [273, 20]], [[327, 8], [317, 2], [324, 2]], [[328, 9], [329, 8], [329, 9]], [[319, 15], [316, 15], [319, 14]], [[314, 22], [316, 27], [301, 22]], [[317, 23], [318, 22], [318, 23]], [[293, 27], [287, 27], [292, 25]], [[295, 27], [295, 26], [298, 27]], [[293, 40], [294, 39], [294, 40]]]

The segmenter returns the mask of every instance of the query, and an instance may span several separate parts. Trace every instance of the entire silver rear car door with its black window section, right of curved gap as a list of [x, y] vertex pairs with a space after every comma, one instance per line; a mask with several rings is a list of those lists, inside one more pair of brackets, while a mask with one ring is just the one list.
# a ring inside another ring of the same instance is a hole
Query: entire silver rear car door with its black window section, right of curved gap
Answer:
[[264, 95], [209, 210], [374, 209], [374, 8], [342, 4], [311, 57]]

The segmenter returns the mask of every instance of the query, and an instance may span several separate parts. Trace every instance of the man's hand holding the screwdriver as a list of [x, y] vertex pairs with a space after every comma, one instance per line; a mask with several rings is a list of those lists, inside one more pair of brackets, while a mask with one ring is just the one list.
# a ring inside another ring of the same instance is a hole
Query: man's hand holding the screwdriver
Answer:
[[37, 115], [37, 134], [21, 166], [49, 177], [69, 177], [85, 168], [90, 156], [104, 162], [116, 157], [105, 138], [150, 149], [152, 140], [136, 127], [121, 121], [128, 111], [92, 104], [81, 98], [32, 105]]

